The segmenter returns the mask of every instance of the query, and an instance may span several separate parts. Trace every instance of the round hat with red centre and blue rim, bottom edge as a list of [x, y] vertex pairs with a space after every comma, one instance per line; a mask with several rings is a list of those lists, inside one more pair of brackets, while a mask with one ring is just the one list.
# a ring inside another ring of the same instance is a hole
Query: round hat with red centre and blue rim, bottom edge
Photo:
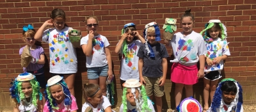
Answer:
[[193, 99], [192, 97], [182, 100], [177, 109], [179, 112], [202, 112], [202, 106], [196, 99]]

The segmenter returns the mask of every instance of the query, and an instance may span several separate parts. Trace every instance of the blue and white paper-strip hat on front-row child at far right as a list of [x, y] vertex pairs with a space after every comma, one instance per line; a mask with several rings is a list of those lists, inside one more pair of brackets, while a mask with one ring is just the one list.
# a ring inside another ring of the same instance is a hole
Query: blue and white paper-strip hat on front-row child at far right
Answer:
[[218, 87], [216, 88], [216, 91], [214, 93], [212, 104], [211, 104], [211, 107], [209, 108], [209, 111], [218, 112], [221, 109], [223, 109], [221, 86], [223, 86], [224, 83], [227, 83], [227, 81], [234, 82], [237, 88], [236, 97], [232, 102], [230, 102], [230, 106], [228, 106], [227, 111], [236, 111], [236, 112], [241, 111], [242, 104], [243, 104], [243, 89], [241, 85], [235, 79], [232, 79], [232, 78], [222, 79], [221, 82], [218, 84]]

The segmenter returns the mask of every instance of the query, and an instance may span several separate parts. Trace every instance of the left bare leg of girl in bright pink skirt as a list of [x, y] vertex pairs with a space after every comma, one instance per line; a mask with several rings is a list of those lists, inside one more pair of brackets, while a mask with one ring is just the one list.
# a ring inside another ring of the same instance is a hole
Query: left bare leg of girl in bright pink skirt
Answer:
[[179, 106], [180, 100], [182, 97], [182, 90], [183, 90], [184, 84], [175, 83], [175, 105], [176, 107]]

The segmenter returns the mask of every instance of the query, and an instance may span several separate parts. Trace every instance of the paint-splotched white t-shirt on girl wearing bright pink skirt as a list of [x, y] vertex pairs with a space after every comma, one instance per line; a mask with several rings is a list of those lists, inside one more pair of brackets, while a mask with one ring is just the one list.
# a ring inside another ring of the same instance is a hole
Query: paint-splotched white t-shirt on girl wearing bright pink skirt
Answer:
[[199, 60], [198, 56], [207, 52], [204, 38], [195, 31], [187, 36], [184, 36], [183, 32], [175, 33], [170, 45], [172, 45], [175, 58], [179, 60], [179, 63], [186, 66], [195, 65]]

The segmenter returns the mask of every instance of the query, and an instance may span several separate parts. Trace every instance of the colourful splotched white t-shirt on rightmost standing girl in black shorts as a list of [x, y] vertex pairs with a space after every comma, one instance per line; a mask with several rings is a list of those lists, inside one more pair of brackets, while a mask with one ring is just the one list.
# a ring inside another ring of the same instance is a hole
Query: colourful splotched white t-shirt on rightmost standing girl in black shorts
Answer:
[[[211, 43], [205, 42], [205, 45], [207, 47], [207, 54], [205, 54], [206, 57], [213, 60], [216, 57], [227, 55], [230, 56], [230, 52], [228, 49], [228, 43], [226, 40], [221, 40], [221, 38], [217, 38], [213, 40]], [[204, 71], [215, 71], [215, 70], [222, 70], [223, 69], [223, 60], [220, 61], [220, 63], [216, 63], [215, 65], [207, 65], [205, 61], [205, 67]]]

